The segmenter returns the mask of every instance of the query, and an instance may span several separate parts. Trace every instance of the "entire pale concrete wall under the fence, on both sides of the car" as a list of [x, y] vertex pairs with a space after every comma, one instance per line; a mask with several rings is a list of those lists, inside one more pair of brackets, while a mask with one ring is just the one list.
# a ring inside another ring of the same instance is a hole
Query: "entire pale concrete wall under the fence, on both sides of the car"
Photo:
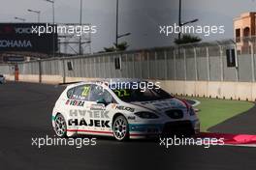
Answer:
[[[15, 80], [14, 75], [5, 75], [7, 80]], [[42, 75], [42, 83], [58, 84], [63, 82], [61, 75]], [[91, 81], [101, 78], [66, 77], [66, 82]], [[19, 74], [19, 81], [39, 82], [39, 75]], [[156, 82], [157, 80], [151, 80]], [[175, 95], [207, 97], [218, 99], [240, 99], [255, 101], [256, 83], [228, 81], [176, 81], [159, 80], [160, 86]]]

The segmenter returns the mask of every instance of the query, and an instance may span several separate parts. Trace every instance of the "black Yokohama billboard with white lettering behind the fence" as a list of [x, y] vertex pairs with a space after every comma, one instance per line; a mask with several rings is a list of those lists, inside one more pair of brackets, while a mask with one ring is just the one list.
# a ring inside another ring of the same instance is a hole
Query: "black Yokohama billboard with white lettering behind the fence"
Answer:
[[31, 51], [51, 53], [57, 50], [57, 34], [33, 33], [33, 28], [46, 23], [0, 23], [0, 51]]

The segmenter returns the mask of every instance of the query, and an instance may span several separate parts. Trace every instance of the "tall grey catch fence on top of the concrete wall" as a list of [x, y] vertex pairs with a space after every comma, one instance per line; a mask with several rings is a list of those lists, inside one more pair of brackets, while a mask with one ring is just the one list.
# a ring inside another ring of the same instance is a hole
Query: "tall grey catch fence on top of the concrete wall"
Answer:
[[[226, 50], [234, 48], [237, 67], [227, 66]], [[88, 78], [144, 78], [187, 81], [255, 81], [255, 38], [202, 42], [116, 53], [99, 53], [17, 64], [22, 75]], [[116, 61], [120, 69], [116, 68]], [[13, 65], [0, 73], [14, 74]], [[63, 79], [65, 80], [65, 78]]]

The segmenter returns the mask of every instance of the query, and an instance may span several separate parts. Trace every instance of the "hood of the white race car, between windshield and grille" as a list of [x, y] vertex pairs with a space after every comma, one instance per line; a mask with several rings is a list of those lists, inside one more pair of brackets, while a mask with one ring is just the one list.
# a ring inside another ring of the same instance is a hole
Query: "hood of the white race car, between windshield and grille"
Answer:
[[180, 99], [172, 98], [172, 99], [161, 99], [161, 100], [151, 100], [151, 101], [137, 101], [131, 102], [131, 104], [138, 105], [152, 111], [165, 111], [168, 109], [186, 109], [187, 106], [185, 102], [181, 101]]

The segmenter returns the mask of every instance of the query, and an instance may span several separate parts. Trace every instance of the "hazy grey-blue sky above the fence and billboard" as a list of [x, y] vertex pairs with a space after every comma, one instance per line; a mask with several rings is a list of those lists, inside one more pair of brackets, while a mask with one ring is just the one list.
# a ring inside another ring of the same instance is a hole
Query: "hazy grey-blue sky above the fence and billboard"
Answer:
[[[42, 22], [52, 22], [51, 5], [44, 0], [0, 0], [0, 22], [16, 22], [15, 16], [28, 22], [37, 20], [27, 9], [40, 10]], [[92, 37], [93, 51], [111, 46], [115, 35], [116, 0], [83, 0], [82, 21], [92, 23], [98, 33]], [[240, 13], [256, 11], [253, 0], [183, 0], [182, 20], [198, 18], [196, 25], [224, 25], [225, 34], [204, 41], [233, 37], [233, 18]], [[177, 23], [178, 0], [119, 0], [119, 33], [132, 35], [127, 41], [130, 49], [171, 45], [173, 38], [159, 35], [159, 25]], [[55, 0], [56, 22], [79, 22], [80, 0]]]

